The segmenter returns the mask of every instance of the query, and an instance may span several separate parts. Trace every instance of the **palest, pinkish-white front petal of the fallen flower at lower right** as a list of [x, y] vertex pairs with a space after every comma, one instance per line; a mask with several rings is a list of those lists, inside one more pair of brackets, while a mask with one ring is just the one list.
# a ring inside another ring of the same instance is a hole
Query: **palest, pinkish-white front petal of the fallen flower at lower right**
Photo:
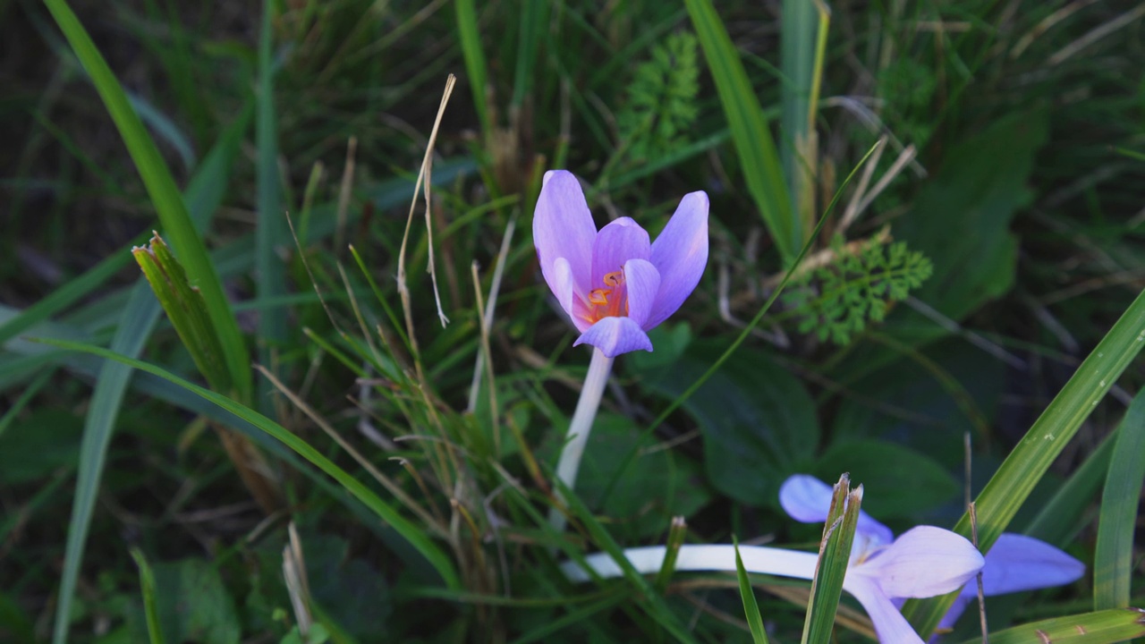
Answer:
[[875, 580], [887, 597], [934, 597], [962, 588], [985, 560], [962, 535], [934, 526], [918, 526], [870, 559], [852, 566], [855, 574]]

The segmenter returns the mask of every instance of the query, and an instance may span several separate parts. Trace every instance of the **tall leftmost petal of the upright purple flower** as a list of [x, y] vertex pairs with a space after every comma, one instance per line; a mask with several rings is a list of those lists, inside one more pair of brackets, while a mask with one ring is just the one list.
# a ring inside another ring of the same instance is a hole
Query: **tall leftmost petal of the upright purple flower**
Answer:
[[568, 260], [572, 280], [587, 292], [595, 237], [597, 225], [576, 176], [563, 170], [546, 172], [532, 214], [532, 243], [537, 246], [540, 273], [554, 293], [555, 264], [560, 257]]

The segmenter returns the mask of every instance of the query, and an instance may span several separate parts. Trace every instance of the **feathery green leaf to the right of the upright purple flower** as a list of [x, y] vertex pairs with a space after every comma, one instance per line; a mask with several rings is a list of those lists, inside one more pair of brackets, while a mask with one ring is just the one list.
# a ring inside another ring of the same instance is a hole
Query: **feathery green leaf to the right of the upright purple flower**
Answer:
[[933, 273], [931, 261], [903, 242], [867, 242], [851, 251], [836, 241], [834, 249], [834, 261], [800, 276], [783, 301], [799, 316], [800, 333], [814, 331], [837, 345], [848, 344], [869, 322], [882, 322], [893, 303]]

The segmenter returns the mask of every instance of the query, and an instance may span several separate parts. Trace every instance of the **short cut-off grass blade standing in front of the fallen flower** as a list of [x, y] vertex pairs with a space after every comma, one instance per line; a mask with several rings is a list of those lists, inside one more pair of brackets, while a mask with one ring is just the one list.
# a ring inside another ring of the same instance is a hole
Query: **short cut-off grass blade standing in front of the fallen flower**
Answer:
[[862, 486], [851, 490], [851, 478], [839, 477], [835, 484], [831, 506], [823, 524], [823, 539], [815, 563], [815, 579], [811, 582], [807, 616], [803, 625], [803, 644], [828, 644], [835, 633], [835, 613], [843, 595], [843, 578], [851, 561], [851, 545], [859, 525]]

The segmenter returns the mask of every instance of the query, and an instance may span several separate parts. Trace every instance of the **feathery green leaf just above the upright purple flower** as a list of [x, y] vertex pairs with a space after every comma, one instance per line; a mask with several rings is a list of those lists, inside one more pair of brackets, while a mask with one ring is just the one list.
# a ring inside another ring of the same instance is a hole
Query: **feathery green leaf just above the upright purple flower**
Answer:
[[688, 142], [700, 109], [696, 37], [681, 31], [652, 49], [637, 66], [624, 108], [616, 117], [621, 141], [634, 160], [663, 155]]

